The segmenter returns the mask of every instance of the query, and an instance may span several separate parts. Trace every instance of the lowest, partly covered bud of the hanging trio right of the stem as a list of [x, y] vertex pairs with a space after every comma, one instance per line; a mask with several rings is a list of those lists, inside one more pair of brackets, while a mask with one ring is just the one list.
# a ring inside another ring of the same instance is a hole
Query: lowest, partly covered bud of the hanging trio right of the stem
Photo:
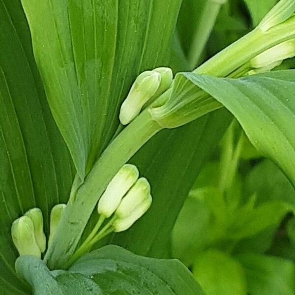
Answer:
[[150, 207], [152, 202], [151, 195], [148, 195], [146, 199], [139, 204], [131, 213], [131, 215], [125, 217], [125, 218], [118, 218], [113, 223], [113, 229], [114, 232], [123, 232], [127, 229], [129, 229], [135, 221], [137, 221], [140, 217], [142, 217]]

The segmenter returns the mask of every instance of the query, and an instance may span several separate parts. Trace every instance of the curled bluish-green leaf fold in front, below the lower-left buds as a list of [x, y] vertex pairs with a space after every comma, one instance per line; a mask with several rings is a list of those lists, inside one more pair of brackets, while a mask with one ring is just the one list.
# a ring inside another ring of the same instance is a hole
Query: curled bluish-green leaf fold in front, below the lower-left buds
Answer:
[[[100, 288], [88, 277], [66, 271], [51, 272], [34, 256], [21, 256], [16, 271], [32, 287], [34, 295], [100, 295]], [[56, 277], [55, 277], [56, 276]]]

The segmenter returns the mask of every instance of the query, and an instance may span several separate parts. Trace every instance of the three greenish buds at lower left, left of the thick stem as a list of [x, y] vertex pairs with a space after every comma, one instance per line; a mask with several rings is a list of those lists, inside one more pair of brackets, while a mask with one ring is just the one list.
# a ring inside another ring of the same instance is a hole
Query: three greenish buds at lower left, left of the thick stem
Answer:
[[[51, 211], [48, 244], [52, 241], [64, 207], [65, 204], [59, 204]], [[39, 208], [29, 209], [24, 216], [16, 219], [12, 223], [11, 236], [20, 255], [33, 255], [41, 258], [41, 253], [46, 250], [46, 236], [41, 210]]]

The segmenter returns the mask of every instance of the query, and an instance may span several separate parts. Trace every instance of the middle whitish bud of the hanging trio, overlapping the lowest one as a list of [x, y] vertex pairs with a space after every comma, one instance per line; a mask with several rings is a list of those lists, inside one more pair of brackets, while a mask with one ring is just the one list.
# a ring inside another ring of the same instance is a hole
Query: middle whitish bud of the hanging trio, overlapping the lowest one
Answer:
[[115, 215], [119, 219], [128, 217], [137, 206], [142, 204], [150, 194], [150, 185], [147, 178], [139, 178], [126, 196], [122, 199]]

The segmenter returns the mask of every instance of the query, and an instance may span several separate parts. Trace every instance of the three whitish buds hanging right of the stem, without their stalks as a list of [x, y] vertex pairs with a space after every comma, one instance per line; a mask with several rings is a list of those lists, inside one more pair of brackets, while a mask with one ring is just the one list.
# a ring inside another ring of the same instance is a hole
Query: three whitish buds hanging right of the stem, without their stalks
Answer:
[[112, 214], [110, 226], [114, 232], [127, 230], [150, 207], [150, 185], [145, 177], [139, 177], [136, 166], [124, 165], [109, 183], [97, 206], [104, 218]]

